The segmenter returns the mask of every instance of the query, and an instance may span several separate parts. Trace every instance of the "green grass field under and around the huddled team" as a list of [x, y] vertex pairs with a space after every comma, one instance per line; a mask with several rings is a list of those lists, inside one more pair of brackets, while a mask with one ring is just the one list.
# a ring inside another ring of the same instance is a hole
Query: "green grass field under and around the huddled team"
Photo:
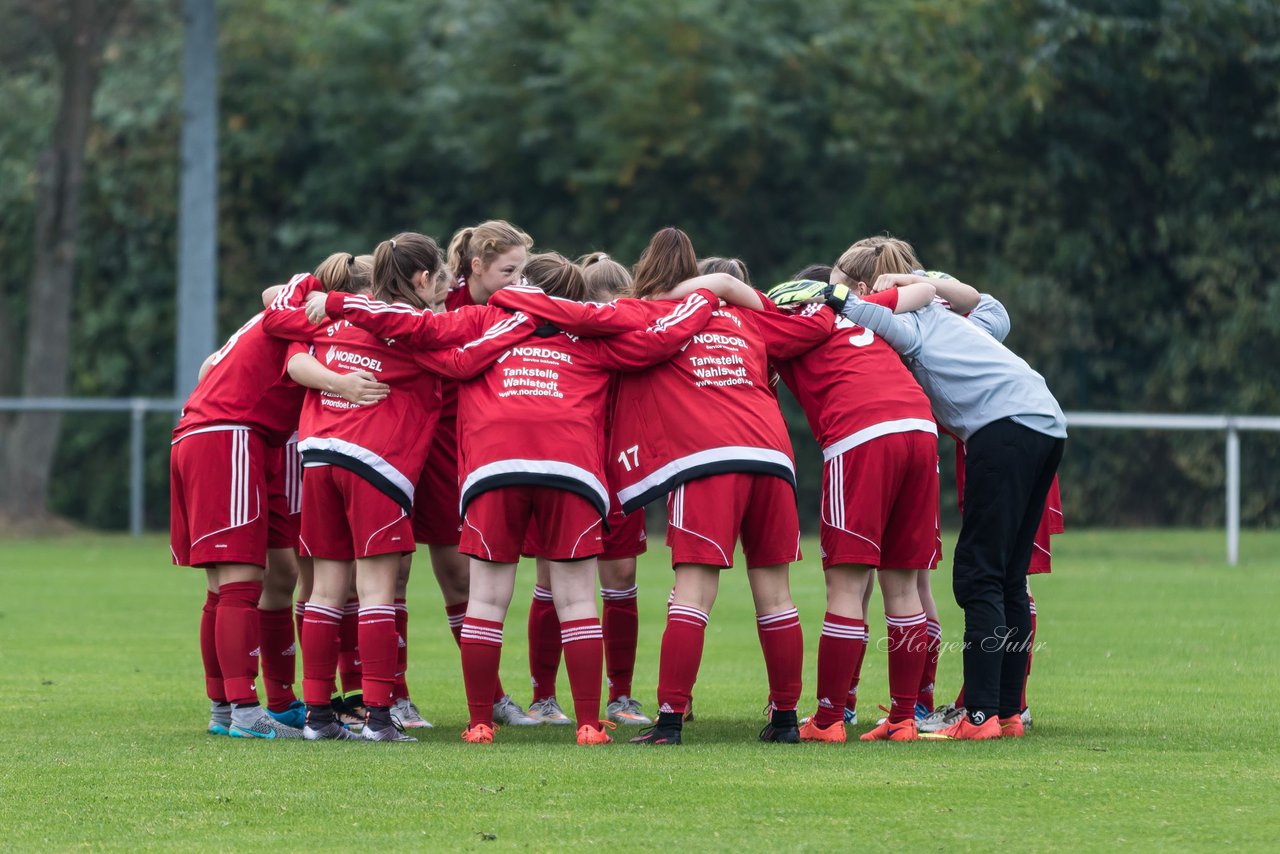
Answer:
[[[1042, 648], [1025, 739], [756, 743], [764, 667], [736, 574], [712, 616], [686, 744], [579, 749], [568, 727], [460, 743], [458, 657], [425, 571], [410, 589], [410, 686], [435, 730], [416, 745], [246, 743], [204, 734], [202, 576], [170, 567], [161, 539], [0, 540], [4, 848], [1276, 845], [1280, 534], [1245, 534], [1236, 568], [1222, 563], [1220, 533], [1071, 533], [1055, 553], [1055, 574], [1034, 583]], [[636, 694], [649, 711], [663, 557], [655, 549], [640, 571]], [[531, 575], [521, 572], [503, 661], [522, 700]], [[792, 572], [808, 639], [803, 709], [819, 575], [814, 560]], [[950, 574], [936, 577], [945, 640], [957, 641]], [[942, 659], [940, 698], [959, 670], [959, 654]], [[887, 698], [874, 647], [863, 686], [859, 732]]]

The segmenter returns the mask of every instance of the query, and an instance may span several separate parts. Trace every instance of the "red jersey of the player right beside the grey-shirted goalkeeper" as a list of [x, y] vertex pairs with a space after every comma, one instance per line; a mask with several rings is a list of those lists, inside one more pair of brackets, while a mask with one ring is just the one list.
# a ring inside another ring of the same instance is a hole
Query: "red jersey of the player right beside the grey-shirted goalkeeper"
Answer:
[[[892, 309], [897, 291], [873, 294], [868, 301]], [[765, 307], [778, 311], [768, 301]], [[806, 306], [795, 316], [820, 314], [820, 306]], [[844, 316], [836, 318], [822, 343], [796, 359], [776, 362], [776, 367], [809, 419], [823, 460], [891, 433], [938, 433], [929, 398], [902, 359], [870, 329]]]

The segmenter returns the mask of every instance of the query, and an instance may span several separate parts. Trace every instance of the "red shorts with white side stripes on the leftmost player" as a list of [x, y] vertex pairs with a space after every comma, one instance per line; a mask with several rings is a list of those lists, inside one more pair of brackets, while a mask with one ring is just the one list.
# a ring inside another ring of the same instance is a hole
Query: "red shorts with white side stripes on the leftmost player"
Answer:
[[178, 566], [266, 566], [262, 438], [248, 428], [188, 433], [169, 461], [169, 548]]

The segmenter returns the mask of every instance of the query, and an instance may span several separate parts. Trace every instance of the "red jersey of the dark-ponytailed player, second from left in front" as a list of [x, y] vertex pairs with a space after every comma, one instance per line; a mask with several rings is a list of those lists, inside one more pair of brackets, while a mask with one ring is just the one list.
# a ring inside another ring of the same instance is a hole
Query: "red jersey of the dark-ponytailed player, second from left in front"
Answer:
[[[311, 278], [298, 287], [311, 292], [321, 286]], [[429, 325], [430, 332], [398, 339], [380, 332], [387, 325], [380, 319], [420, 318], [424, 312], [342, 292], [329, 293], [325, 305], [330, 316], [343, 319], [321, 329], [311, 326], [306, 333], [312, 339], [316, 357], [333, 371], [369, 371], [390, 385], [392, 393], [376, 403], [355, 406], [330, 392], [308, 389], [298, 425], [298, 451], [303, 466], [337, 465], [348, 469], [410, 512], [413, 487], [440, 412], [440, 375], [472, 375], [484, 370], [509, 346], [500, 335], [484, 334], [489, 325], [486, 319], [493, 319], [493, 312], [500, 315], [504, 329], [512, 333], [513, 339], [527, 335], [532, 324], [527, 318], [500, 310], [485, 311], [484, 318], [428, 312], [431, 323], [424, 324], [424, 329]], [[273, 302], [264, 324], [276, 334], [297, 337], [296, 318], [300, 314], [301, 309]], [[467, 344], [424, 351], [424, 339], [438, 347], [457, 342]]]

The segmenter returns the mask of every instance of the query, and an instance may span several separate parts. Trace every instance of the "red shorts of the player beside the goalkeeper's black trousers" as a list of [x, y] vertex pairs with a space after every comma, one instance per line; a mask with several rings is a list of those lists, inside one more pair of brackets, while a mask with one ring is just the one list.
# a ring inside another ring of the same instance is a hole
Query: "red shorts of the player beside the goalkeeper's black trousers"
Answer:
[[823, 568], [936, 568], [942, 553], [937, 437], [891, 433], [828, 460], [819, 542]]

